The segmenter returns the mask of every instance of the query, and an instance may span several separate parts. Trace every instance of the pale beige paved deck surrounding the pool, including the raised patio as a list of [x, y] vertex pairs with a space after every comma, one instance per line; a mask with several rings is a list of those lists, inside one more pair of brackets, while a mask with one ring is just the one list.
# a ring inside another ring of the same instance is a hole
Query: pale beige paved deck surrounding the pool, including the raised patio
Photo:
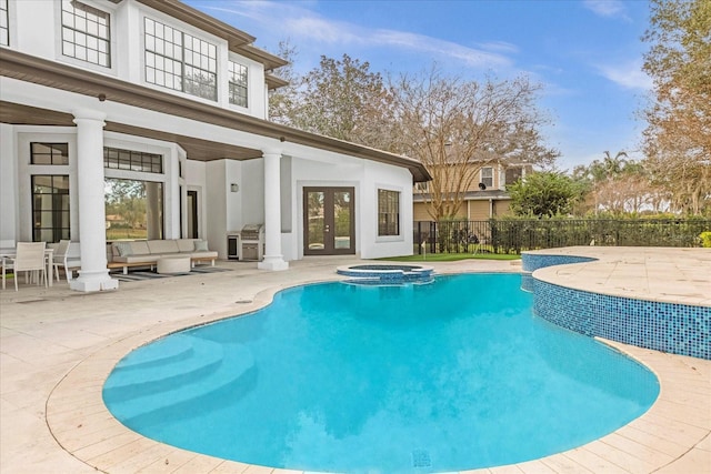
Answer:
[[[547, 251], [553, 252], [553, 251]], [[711, 251], [572, 248], [598, 262], [540, 270], [555, 284], [711, 306]], [[582, 253], [585, 252], [585, 253]], [[297, 473], [204, 456], [148, 440], [116, 421], [101, 386], [127, 352], [181, 327], [253, 311], [294, 284], [340, 280], [357, 259], [304, 259], [284, 272], [224, 262], [229, 272], [121, 283], [78, 293], [10, 284], [0, 291], [0, 472]], [[519, 272], [508, 261], [431, 263], [435, 271]], [[462, 473], [711, 473], [711, 361], [610, 343], [659, 377], [641, 417], [581, 447], [527, 463]]]

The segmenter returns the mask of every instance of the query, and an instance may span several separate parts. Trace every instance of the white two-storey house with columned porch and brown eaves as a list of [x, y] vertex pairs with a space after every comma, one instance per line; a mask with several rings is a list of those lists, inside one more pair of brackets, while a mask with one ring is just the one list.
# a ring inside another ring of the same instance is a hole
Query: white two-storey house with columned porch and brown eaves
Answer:
[[74, 290], [113, 289], [104, 183], [140, 181], [149, 239], [263, 224], [259, 266], [412, 252], [417, 161], [269, 122], [254, 38], [177, 0], [0, 0], [0, 248], [81, 243]]

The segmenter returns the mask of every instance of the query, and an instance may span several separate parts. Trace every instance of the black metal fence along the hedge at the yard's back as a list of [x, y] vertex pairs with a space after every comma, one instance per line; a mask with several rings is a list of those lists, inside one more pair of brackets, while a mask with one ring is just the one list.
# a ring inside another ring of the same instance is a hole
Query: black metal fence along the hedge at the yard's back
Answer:
[[414, 253], [514, 253], [571, 245], [701, 246], [709, 219], [417, 221]]

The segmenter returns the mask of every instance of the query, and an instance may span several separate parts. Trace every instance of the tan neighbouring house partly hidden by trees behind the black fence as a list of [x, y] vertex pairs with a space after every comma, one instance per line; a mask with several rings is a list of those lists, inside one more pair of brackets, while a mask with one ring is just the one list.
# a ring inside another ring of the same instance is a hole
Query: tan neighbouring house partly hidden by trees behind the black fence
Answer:
[[[483, 221], [510, 213], [511, 196], [507, 193], [507, 184], [514, 183], [527, 173], [532, 172], [531, 164], [512, 163], [495, 160], [484, 164], [472, 162], [471, 167], [480, 169], [477, 179], [464, 192], [464, 200], [455, 218], [462, 221]], [[433, 182], [421, 182], [414, 185], [412, 205], [415, 221], [432, 221], [429, 212], [432, 196], [430, 189]]]

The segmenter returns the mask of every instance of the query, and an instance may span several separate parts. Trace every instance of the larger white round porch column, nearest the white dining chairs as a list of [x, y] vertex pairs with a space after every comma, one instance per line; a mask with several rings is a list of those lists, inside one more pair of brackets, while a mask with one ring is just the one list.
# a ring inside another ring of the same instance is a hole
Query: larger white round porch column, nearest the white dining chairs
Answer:
[[119, 281], [107, 269], [107, 228], [103, 196], [103, 119], [106, 114], [81, 109], [72, 112], [77, 124], [77, 188], [81, 270], [69, 282], [77, 291], [116, 290]]

